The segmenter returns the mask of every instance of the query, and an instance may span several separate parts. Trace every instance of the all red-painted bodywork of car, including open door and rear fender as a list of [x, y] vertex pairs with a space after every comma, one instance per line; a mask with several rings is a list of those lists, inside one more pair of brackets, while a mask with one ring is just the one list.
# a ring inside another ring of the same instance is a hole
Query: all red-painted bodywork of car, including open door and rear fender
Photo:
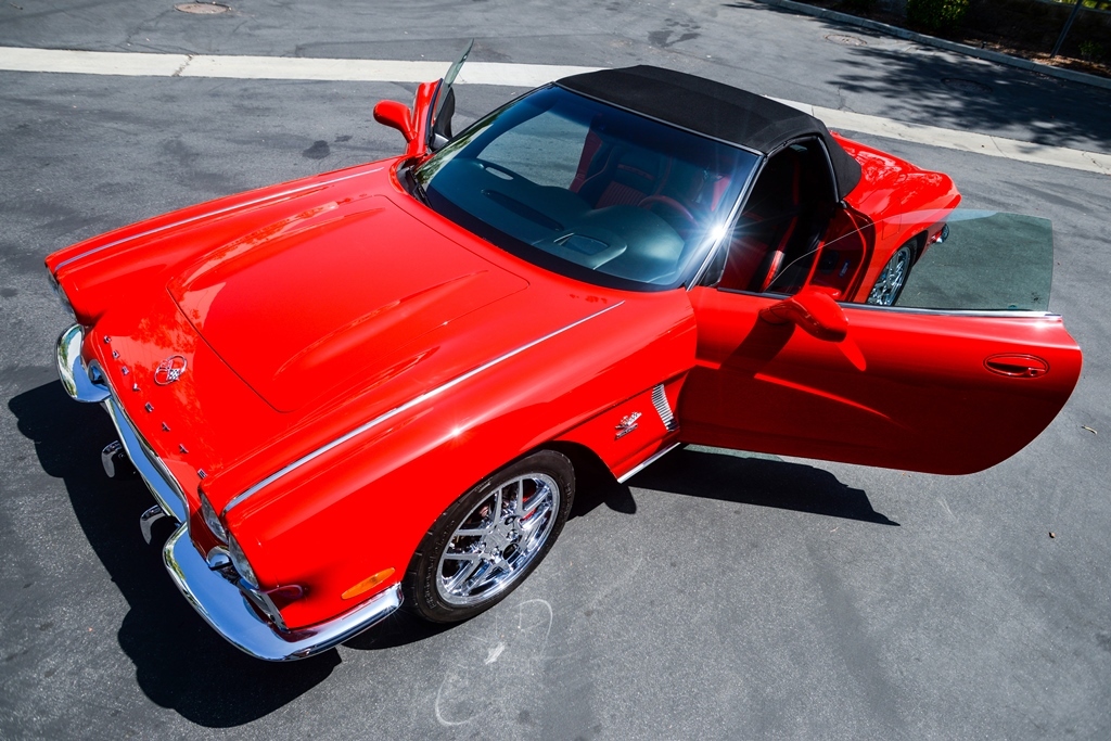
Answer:
[[[424, 153], [434, 88], [418, 91], [408, 158]], [[825, 242], [852, 267], [811, 282], [861, 301], [960, 196], [947, 176], [840, 141], [862, 180]], [[617, 477], [679, 441], [961, 473], [1035, 437], [1079, 374], [1055, 317], [842, 304], [848, 336], [831, 342], [762, 322], [774, 297], [578, 282], [413, 199], [402, 161], [190, 207], [47, 259], [84, 360], [184, 490], [198, 549], [218, 544], [197, 513], [203, 491], [259, 587], [303, 591], [282, 605], [290, 629], [397, 584], [451, 502], [538, 448]], [[984, 364], [1000, 354], [1050, 371], [1000, 375]], [[159, 384], [176, 356], [188, 372]], [[652, 413], [659, 385], [670, 428]]]

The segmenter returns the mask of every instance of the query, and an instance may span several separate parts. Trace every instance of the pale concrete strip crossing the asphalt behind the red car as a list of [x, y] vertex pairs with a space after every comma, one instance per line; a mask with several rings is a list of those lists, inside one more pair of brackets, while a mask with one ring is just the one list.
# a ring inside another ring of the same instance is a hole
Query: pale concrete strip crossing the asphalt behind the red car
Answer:
[[[0, 47], [0, 70], [17, 72], [413, 83], [437, 79], [443, 74], [449, 62], [389, 59], [156, 54]], [[533, 88], [568, 74], [589, 72], [594, 69], [598, 68], [468, 62], [460, 71], [457, 82], [460, 84]], [[790, 100], [781, 100], [780, 102], [811, 113], [824, 121], [831, 129], [843, 129], [1020, 162], [1111, 174], [1111, 154], [1064, 147], [1045, 147], [940, 127], [902, 123], [879, 116], [852, 113]]]

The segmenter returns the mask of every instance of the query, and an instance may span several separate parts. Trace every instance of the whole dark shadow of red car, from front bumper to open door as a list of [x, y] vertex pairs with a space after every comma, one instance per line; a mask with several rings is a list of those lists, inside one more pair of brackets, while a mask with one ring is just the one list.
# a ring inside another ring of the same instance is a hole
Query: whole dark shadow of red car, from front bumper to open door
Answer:
[[[293, 663], [252, 659], [220, 638], [189, 607], [162, 565], [159, 549], [172, 531], [156, 523], [152, 544], [142, 540], [138, 518], [153, 500], [139, 479], [104, 477], [99, 451], [116, 439], [98, 404], [74, 403], [61, 383], [40, 385], [11, 399], [20, 432], [34, 442], [43, 471], [66, 484], [84, 537], [129, 611], [119, 627], [120, 648], [136, 667], [147, 697], [209, 728], [231, 728], [262, 718], [324, 681], [340, 663], [337, 651]], [[638, 473], [632, 483], [693, 497], [759, 507], [898, 524], [875, 512], [859, 489], [809, 465], [677, 450]], [[604, 504], [637, 511], [629, 485], [599, 464], [580, 462], [571, 517]], [[434, 637], [451, 625], [426, 622], [402, 608], [347, 645], [380, 650]]]

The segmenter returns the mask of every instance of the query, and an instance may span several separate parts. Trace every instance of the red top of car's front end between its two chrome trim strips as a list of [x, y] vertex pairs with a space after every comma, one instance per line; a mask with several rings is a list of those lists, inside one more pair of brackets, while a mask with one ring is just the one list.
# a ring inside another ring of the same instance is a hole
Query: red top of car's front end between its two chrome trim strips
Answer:
[[48, 259], [86, 362], [190, 497], [203, 479], [221, 508], [368, 420], [638, 298], [491, 247], [401, 191], [391, 164], [190, 207]]

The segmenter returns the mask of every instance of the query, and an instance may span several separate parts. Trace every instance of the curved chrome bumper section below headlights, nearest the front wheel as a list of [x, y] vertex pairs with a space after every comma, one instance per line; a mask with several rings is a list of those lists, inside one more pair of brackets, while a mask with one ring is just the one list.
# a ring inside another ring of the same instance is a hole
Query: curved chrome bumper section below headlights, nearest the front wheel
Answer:
[[327, 651], [401, 607], [401, 585], [396, 584], [338, 618], [286, 631], [260, 617], [238, 587], [209, 568], [189, 539], [188, 525], [170, 535], [162, 561], [204, 622], [240, 651], [266, 661], [296, 661]]

